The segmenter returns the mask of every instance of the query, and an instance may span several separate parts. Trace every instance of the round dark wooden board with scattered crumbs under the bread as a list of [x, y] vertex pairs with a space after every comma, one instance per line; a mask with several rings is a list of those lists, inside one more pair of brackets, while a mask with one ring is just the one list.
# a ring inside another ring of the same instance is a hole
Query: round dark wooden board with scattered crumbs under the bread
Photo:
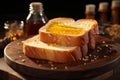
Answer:
[[4, 59], [15, 71], [41, 79], [88, 79], [112, 70], [120, 63], [120, 45], [104, 37], [96, 38], [96, 49], [74, 63], [54, 63], [32, 59], [24, 55], [22, 40], [9, 43], [4, 49]]

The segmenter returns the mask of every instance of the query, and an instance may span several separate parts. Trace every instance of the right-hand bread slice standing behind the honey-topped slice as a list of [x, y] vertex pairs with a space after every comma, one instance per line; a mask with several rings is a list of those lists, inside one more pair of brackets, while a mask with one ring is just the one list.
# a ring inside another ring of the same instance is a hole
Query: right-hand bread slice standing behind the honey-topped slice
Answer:
[[80, 25], [84, 25], [84, 27], [91, 28], [89, 30], [89, 32], [88, 32], [88, 39], [89, 39], [88, 47], [91, 48], [91, 49], [94, 49], [95, 48], [95, 44], [96, 44], [96, 42], [95, 42], [95, 35], [99, 34], [97, 21], [93, 20], [93, 19], [79, 19], [79, 20], [77, 20], [77, 22]]

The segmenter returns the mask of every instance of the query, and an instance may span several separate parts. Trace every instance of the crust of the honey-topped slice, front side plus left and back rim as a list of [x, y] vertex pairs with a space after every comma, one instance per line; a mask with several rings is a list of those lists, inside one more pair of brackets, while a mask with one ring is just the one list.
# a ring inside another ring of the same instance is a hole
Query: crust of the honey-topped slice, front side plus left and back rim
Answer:
[[72, 18], [55, 18], [49, 20], [49, 22], [45, 26], [39, 29], [40, 40], [46, 43], [50, 43], [50, 44], [56, 43], [64, 46], [82, 46], [85, 43], [88, 43], [89, 30], [85, 31], [84, 33], [81, 33], [80, 35], [53, 34], [45, 31], [51, 23], [61, 22], [61, 21], [63, 22], [66, 21], [69, 23], [75, 22], [75, 20]]

